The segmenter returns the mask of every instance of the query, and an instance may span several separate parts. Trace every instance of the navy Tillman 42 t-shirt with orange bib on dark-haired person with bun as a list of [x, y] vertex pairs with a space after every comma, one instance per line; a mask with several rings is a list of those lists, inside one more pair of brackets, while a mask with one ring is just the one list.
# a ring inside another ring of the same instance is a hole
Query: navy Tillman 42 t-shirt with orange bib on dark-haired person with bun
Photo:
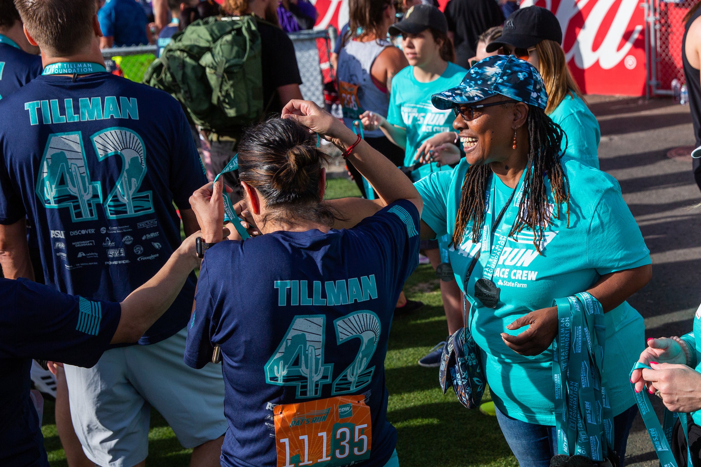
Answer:
[[280, 231], [207, 250], [185, 363], [202, 368], [221, 346], [222, 466], [277, 465], [276, 405], [355, 394], [372, 419], [363, 465], [387, 463], [397, 432], [384, 361], [397, 298], [418, 265], [418, 222], [400, 200], [348, 230]]

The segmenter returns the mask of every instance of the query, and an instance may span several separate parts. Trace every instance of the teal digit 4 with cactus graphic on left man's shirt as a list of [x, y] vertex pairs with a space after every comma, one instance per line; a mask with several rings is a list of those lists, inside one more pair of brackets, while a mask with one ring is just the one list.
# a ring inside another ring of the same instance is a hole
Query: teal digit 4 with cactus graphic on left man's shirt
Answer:
[[90, 180], [80, 132], [50, 134], [39, 164], [36, 195], [49, 209], [69, 208], [73, 222], [97, 219], [100, 183]]

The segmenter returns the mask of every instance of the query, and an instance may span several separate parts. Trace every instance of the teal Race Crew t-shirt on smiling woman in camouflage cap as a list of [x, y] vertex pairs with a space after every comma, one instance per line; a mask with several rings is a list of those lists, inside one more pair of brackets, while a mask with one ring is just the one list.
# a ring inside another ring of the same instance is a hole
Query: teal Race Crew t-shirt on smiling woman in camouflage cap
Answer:
[[[421, 219], [437, 237], [454, 232], [468, 167], [463, 159], [453, 172], [430, 174], [415, 183], [423, 198]], [[494, 402], [509, 417], [542, 425], [555, 424], [552, 347], [538, 356], [522, 356], [507, 347], [500, 334], [524, 332], [527, 327], [508, 330], [506, 326], [529, 312], [552, 307], [554, 299], [587, 290], [604, 274], [651, 263], [618, 182], [570, 158], [563, 160], [563, 169], [571, 193], [569, 228], [566, 205], [562, 204], [559, 218], [553, 218], [545, 230], [540, 244], [543, 255], [536, 251], [532, 230], [524, 229], [516, 239], [508, 238], [492, 278], [501, 288], [496, 309], [486, 308], [474, 298], [475, 281], [482, 277], [479, 261], [467, 286], [463, 285], [468, 266], [481, 248], [479, 242], [472, 243], [472, 225], [468, 225], [463, 242], [457, 248], [451, 246], [448, 253], [456, 281], [467, 291], [472, 335], [482, 349], [482, 364]], [[493, 179], [494, 212], [499, 212], [513, 190], [498, 176], [493, 175]], [[549, 181], [547, 186], [550, 192]], [[552, 193], [549, 198], [554, 204]], [[494, 232], [492, 235], [494, 244]], [[644, 348], [644, 320], [627, 302], [604, 316], [604, 384], [613, 414], [617, 415], [635, 404], [628, 373]]]

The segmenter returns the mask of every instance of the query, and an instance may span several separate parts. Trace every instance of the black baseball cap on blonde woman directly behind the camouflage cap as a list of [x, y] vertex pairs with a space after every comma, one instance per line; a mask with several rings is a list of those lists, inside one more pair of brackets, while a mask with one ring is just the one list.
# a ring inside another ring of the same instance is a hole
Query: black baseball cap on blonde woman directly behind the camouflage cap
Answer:
[[487, 44], [486, 51], [494, 52], [503, 46], [531, 48], [545, 39], [562, 44], [560, 22], [547, 8], [529, 6], [506, 18], [501, 37]]

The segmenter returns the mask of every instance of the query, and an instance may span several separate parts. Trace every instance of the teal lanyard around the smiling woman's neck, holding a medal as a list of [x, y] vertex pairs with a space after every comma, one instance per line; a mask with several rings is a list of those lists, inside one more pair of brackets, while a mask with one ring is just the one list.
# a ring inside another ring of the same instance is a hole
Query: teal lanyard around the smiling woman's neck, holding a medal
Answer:
[[479, 263], [482, 264], [482, 278], [489, 281], [494, 277], [494, 269], [496, 268], [499, 258], [501, 258], [502, 251], [504, 251], [506, 237], [509, 235], [509, 231], [516, 221], [516, 216], [519, 212], [519, 203], [521, 202], [524, 189], [526, 170], [528, 170], [527, 167], [523, 174], [521, 174], [519, 184], [514, 189], [514, 193], [518, 193], [518, 195], [512, 195], [509, 198], [507, 203], [510, 203], [510, 205], [506, 209], [501, 223], [494, 232], [494, 245], [491, 244], [491, 223], [494, 219], [494, 209], [492, 205], [496, 197], [496, 175], [491, 174], [490, 187], [485, 194], [484, 227], [482, 228], [482, 253], [486, 253], [487, 251], [491, 251], [491, 253], [489, 253], [489, 256], [484, 254], [479, 256]]

